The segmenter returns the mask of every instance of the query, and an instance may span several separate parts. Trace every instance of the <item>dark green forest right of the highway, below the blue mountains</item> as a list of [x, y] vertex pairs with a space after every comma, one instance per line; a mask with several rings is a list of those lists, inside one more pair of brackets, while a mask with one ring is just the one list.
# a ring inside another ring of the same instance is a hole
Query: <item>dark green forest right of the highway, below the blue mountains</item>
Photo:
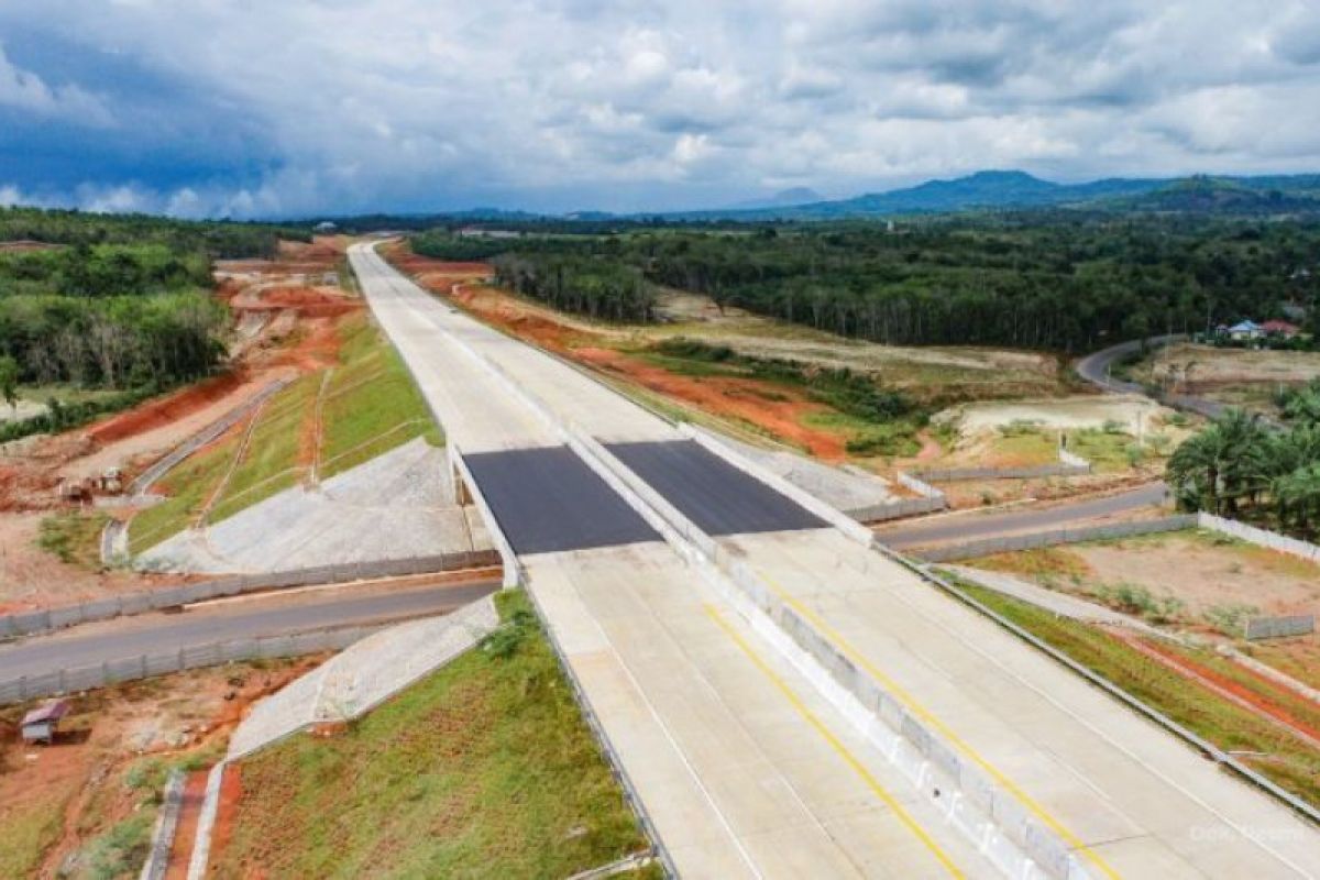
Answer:
[[1284, 303], [1309, 305], [1320, 278], [1312, 220], [1039, 210], [912, 219], [892, 230], [874, 222], [568, 228], [516, 239], [433, 230], [412, 247], [492, 260], [520, 293], [607, 319], [649, 314], [653, 290], [631, 282], [634, 272], [845, 336], [1064, 352], [1282, 317]]

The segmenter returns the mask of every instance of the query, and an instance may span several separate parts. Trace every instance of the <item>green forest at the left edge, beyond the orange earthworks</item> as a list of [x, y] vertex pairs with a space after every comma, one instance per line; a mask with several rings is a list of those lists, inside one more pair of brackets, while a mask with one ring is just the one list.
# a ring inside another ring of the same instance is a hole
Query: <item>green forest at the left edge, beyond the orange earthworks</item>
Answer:
[[74, 211], [0, 210], [0, 376], [18, 387], [106, 393], [4, 426], [66, 427], [213, 373], [228, 313], [211, 261], [272, 256], [296, 230]]

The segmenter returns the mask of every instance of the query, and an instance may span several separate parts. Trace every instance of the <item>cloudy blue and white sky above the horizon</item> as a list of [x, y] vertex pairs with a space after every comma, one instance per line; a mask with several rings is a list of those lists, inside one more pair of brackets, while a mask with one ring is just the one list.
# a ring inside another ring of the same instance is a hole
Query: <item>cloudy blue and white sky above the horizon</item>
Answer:
[[1320, 170], [1316, 0], [0, 4], [0, 203], [664, 210]]

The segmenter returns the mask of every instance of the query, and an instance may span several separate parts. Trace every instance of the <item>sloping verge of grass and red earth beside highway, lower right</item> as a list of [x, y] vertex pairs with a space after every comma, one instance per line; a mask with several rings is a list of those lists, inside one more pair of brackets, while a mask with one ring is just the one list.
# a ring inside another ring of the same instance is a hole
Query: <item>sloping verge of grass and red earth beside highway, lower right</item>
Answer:
[[1024, 629], [1129, 694], [1200, 734], [1282, 788], [1320, 805], [1320, 707], [1208, 649], [1119, 637], [1003, 596], [964, 586]]

